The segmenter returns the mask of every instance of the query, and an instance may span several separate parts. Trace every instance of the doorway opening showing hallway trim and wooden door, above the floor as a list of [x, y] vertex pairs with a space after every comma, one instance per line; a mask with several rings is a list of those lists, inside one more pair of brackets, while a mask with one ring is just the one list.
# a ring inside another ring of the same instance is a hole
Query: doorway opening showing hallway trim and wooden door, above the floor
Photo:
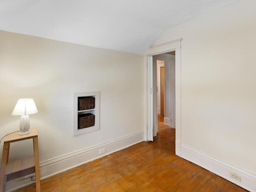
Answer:
[[165, 125], [175, 128], [175, 51], [153, 56], [153, 93], [154, 137], [159, 115], [164, 116]]

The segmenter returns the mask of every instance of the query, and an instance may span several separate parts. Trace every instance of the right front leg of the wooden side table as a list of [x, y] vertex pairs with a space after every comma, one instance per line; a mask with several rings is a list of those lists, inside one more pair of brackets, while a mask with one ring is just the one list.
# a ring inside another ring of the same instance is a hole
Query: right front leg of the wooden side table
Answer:
[[39, 153], [38, 153], [38, 137], [33, 138], [35, 173], [36, 173], [36, 192], [40, 192], [40, 171], [39, 171]]

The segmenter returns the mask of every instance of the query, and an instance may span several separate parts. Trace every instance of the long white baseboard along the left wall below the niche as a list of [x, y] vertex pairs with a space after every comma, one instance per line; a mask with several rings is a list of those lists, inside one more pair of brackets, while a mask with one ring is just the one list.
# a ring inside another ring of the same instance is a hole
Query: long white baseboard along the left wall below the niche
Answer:
[[[144, 131], [140, 131], [134, 134], [130, 134], [128, 136], [124, 136], [122, 138], [98, 144], [90, 148], [72, 152], [70, 154], [59, 156], [44, 162], [40, 162], [40, 180], [49, 178], [58, 173], [80, 166], [82, 164], [101, 158], [103, 156], [127, 148], [142, 141], [144, 141]], [[105, 148], [105, 153], [99, 154], [99, 149], [101, 148]], [[32, 183], [32, 181], [26, 183], [24, 181], [6, 182], [6, 192], [12, 192]]]

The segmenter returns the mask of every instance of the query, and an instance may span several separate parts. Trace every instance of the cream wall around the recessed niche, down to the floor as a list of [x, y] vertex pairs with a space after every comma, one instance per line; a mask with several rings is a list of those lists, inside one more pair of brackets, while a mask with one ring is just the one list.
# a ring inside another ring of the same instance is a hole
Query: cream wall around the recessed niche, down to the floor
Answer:
[[[100, 91], [100, 130], [73, 136], [73, 93], [88, 91]], [[30, 128], [41, 178], [99, 157], [100, 147], [108, 154], [143, 140], [143, 56], [1, 31], [1, 138], [19, 129], [20, 116], [11, 115], [19, 98], [38, 108]], [[10, 160], [27, 155], [31, 141], [11, 144]]]

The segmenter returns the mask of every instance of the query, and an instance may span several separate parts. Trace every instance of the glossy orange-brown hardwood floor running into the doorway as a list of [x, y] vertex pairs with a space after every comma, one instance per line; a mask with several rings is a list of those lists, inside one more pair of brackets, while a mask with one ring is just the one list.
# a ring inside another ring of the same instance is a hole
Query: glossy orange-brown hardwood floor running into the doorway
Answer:
[[[154, 142], [140, 142], [41, 181], [42, 192], [246, 192], [175, 155], [175, 129], [158, 122]], [[35, 192], [32, 184], [16, 192]]]

